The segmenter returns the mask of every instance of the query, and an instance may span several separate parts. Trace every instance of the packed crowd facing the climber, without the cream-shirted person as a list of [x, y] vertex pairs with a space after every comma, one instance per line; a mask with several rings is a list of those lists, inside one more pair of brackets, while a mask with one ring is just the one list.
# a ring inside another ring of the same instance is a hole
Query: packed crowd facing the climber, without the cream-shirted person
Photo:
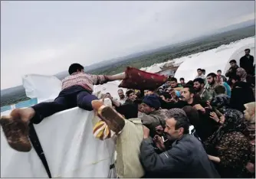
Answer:
[[[119, 89], [120, 99], [107, 94], [126, 119], [139, 117], [149, 129], [153, 139], [146, 136], [140, 148], [146, 176], [254, 177], [254, 66], [249, 50], [245, 54], [240, 67], [230, 60], [225, 75], [218, 70], [205, 76], [199, 68], [187, 83], [170, 77], [156, 90]], [[138, 116], [130, 116], [130, 104], [138, 106]], [[176, 117], [168, 116], [170, 111]]]

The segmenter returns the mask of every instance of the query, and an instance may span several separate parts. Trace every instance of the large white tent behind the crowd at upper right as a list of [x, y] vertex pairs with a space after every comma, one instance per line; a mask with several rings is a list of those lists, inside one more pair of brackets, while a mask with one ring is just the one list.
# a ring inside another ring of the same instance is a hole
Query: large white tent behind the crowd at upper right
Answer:
[[237, 60], [238, 64], [240, 58], [245, 55], [245, 49], [251, 49], [251, 55], [255, 55], [254, 37], [248, 37], [241, 41], [222, 45], [218, 48], [207, 50], [203, 53], [186, 57], [184, 62], [176, 71], [175, 77], [177, 79], [184, 77], [185, 81], [194, 80], [197, 75], [197, 69], [205, 69], [207, 73], [217, 73], [217, 70], [222, 70], [225, 73], [230, 67], [229, 61]]

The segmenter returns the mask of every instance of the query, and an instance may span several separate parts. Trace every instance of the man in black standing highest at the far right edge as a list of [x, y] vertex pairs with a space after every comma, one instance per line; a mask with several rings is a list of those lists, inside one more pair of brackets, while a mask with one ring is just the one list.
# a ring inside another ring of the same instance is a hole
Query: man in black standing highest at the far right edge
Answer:
[[240, 59], [240, 67], [245, 69], [246, 73], [254, 76], [254, 57], [250, 55], [250, 49], [245, 49], [245, 56]]

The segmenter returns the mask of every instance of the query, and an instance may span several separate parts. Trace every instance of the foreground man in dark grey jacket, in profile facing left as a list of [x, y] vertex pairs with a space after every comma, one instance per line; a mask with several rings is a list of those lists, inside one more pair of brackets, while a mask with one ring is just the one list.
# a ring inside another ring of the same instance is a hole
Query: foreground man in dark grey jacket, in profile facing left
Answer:
[[[166, 119], [165, 133], [172, 142], [172, 148], [157, 154], [149, 129], [144, 127], [144, 139], [140, 147], [141, 162], [145, 171], [159, 177], [220, 177], [212, 161], [197, 138], [189, 135], [189, 119], [182, 109], [171, 109]], [[168, 112], [167, 112], [168, 114]]]

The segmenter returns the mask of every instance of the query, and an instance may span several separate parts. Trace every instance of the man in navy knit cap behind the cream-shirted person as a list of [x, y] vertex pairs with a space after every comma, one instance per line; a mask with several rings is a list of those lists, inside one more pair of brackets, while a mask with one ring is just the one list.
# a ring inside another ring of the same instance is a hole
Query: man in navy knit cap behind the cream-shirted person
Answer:
[[160, 109], [159, 96], [155, 94], [145, 96], [141, 106], [142, 112], [139, 112], [139, 118], [143, 125], [150, 129], [150, 136], [159, 135], [166, 124], [166, 109]]

